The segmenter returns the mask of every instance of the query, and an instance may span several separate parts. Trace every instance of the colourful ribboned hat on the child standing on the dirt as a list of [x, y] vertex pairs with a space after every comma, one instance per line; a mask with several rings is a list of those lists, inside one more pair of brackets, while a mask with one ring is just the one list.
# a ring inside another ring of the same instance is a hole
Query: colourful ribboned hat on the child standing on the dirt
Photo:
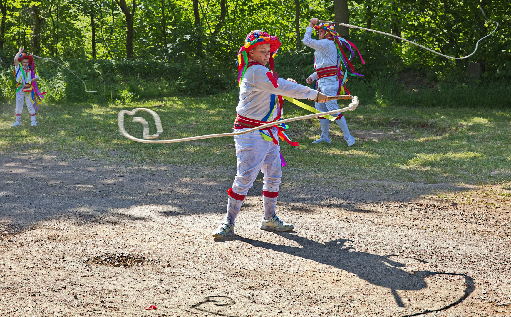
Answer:
[[270, 36], [268, 33], [259, 30], [253, 30], [245, 38], [245, 44], [241, 46], [238, 52], [238, 84], [241, 83], [248, 65], [248, 52], [255, 46], [261, 44], [270, 44], [270, 69], [274, 70], [273, 57], [276, 55], [278, 47], [281, 46], [281, 40], [276, 36]]

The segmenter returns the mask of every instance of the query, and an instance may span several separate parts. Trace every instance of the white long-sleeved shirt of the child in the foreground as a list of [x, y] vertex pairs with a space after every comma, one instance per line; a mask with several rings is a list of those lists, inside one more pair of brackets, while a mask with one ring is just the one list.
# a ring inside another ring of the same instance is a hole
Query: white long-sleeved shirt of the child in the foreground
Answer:
[[[263, 120], [270, 112], [271, 94], [296, 99], [315, 99], [318, 94], [317, 90], [283, 78], [278, 78], [276, 81], [278, 86], [274, 87], [268, 76], [273, 78], [270, 70], [263, 65], [255, 64], [247, 68], [240, 85], [240, 102], [236, 107], [239, 115], [250, 119]], [[275, 96], [275, 103], [277, 102]], [[268, 121], [276, 118], [277, 108], [274, 107], [273, 112], [267, 119]]]

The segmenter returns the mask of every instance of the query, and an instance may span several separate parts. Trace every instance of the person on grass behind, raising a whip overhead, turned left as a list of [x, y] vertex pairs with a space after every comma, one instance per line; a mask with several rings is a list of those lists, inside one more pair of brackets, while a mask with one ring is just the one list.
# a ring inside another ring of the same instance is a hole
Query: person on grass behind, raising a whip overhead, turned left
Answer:
[[[354, 56], [353, 48], [357, 50], [357, 47], [352, 42], [338, 36], [333, 25], [320, 23], [320, 25], [316, 26], [317, 22], [317, 18], [311, 19], [303, 40], [305, 45], [316, 50], [314, 52], [314, 69], [316, 71], [307, 78], [307, 83], [311, 84], [316, 80], [315, 88], [327, 95], [349, 94], [350, 92], [344, 86], [347, 75], [362, 76], [353, 72], [353, 65], [350, 62], [351, 58]], [[318, 40], [311, 38], [313, 27], [318, 31]], [[342, 45], [345, 45], [349, 49], [349, 58], [344, 54], [344, 51], [342, 51]], [[360, 59], [362, 59], [362, 56], [360, 56]], [[330, 100], [324, 104], [316, 103], [316, 109], [324, 112], [339, 109], [339, 106], [337, 105], [337, 100]], [[333, 116], [336, 115], [333, 114]], [[330, 143], [331, 141], [328, 136], [330, 121], [319, 117], [319, 123], [321, 125], [321, 136], [312, 143]], [[339, 125], [339, 128], [341, 128], [344, 134], [344, 140], [346, 140], [348, 146], [351, 147], [355, 144], [355, 138], [350, 134], [346, 119], [342, 113], [338, 114], [336, 123]]]

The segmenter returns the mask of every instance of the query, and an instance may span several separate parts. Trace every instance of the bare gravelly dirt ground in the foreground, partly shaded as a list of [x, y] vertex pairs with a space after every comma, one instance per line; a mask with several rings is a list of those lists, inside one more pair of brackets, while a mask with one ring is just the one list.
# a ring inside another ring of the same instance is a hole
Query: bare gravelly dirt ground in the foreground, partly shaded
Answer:
[[272, 233], [257, 181], [218, 241], [234, 167], [142, 164], [0, 157], [0, 314], [511, 314], [509, 189], [301, 179]]

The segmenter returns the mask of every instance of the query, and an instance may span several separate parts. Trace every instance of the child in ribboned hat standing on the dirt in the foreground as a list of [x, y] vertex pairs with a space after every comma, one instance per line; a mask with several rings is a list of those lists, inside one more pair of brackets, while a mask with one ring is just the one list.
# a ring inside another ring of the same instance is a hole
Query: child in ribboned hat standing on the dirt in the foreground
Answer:
[[[275, 126], [234, 137], [237, 173], [233, 187], [227, 190], [225, 219], [212, 233], [212, 236], [218, 239], [234, 233], [236, 216], [259, 171], [264, 174], [264, 217], [259, 228], [280, 232], [294, 228], [275, 215], [282, 166], [285, 165], [278, 138], [291, 145], [298, 145], [291, 142], [284, 133], [288, 127], [278, 124], [282, 115], [282, 95], [296, 99], [309, 98], [319, 103], [328, 101], [328, 98], [292, 79], [278, 78], [273, 69], [273, 56], [280, 45], [281, 42], [276, 36], [254, 30], [247, 35], [238, 54], [240, 101], [236, 107], [238, 116], [234, 122], [234, 130], [244, 131], [269, 122], [275, 122]], [[266, 68], [268, 62], [271, 71]]]

